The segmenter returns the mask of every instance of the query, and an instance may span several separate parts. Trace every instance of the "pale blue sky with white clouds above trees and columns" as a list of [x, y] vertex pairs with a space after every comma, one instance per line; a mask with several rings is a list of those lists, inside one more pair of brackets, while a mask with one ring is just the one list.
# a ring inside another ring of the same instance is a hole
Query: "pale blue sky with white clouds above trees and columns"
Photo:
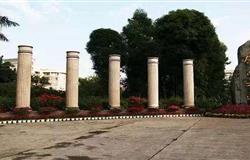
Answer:
[[237, 65], [238, 47], [250, 40], [250, 1], [0, 0], [0, 15], [20, 24], [2, 28], [10, 41], [0, 41], [0, 55], [16, 58], [18, 45], [32, 45], [34, 68], [65, 71], [66, 51], [76, 50], [80, 51], [80, 77], [91, 76], [94, 70], [86, 51], [90, 33], [98, 28], [121, 32], [138, 8], [153, 20], [176, 9], [203, 12], [228, 48], [228, 70]]

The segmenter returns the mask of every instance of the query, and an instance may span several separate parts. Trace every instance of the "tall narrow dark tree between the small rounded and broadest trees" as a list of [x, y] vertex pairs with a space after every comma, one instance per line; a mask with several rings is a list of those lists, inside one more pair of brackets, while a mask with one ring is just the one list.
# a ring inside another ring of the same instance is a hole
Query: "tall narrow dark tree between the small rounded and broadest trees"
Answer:
[[127, 44], [127, 92], [129, 95], [147, 95], [147, 57], [157, 56], [153, 40], [154, 27], [144, 10], [137, 9], [122, 35]]

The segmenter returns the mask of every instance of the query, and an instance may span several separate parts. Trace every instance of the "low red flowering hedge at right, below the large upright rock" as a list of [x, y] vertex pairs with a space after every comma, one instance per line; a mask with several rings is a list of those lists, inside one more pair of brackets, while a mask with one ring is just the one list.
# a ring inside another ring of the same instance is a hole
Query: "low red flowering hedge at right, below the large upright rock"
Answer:
[[227, 104], [218, 108], [215, 112], [224, 114], [250, 114], [250, 105], [239, 104], [232, 105]]

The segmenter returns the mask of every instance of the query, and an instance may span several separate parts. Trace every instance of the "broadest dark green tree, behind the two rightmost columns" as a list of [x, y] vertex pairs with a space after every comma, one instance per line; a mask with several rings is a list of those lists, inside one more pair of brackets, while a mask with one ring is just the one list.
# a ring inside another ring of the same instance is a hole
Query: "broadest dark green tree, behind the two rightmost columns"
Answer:
[[161, 96], [182, 96], [182, 60], [194, 59], [195, 94], [215, 97], [224, 91], [226, 47], [211, 21], [196, 10], [176, 10], [155, 22], [160, 46]]

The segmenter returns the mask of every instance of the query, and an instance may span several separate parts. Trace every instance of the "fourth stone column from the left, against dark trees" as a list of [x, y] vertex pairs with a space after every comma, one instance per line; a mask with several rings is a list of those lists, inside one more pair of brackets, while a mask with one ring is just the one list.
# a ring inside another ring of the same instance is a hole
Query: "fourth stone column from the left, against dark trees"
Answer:
[[159, 107], [158, 57], [148, 58], [148, 107]]

